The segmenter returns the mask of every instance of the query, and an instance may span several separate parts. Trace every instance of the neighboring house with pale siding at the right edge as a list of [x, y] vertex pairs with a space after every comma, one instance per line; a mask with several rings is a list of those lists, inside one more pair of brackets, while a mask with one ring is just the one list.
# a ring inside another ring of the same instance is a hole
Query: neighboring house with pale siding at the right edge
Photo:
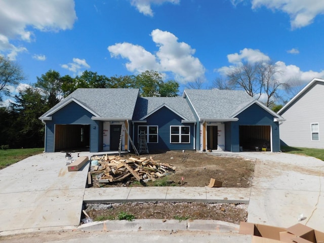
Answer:
[[313, 78], [278, 114], [282, 145], [324, 148], [324, 79]]

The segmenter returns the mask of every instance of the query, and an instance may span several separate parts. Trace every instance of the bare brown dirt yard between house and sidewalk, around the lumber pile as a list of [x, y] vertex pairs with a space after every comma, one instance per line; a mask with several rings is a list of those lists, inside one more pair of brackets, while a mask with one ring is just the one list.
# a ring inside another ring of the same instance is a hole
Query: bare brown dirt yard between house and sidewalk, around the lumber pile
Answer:
[[[136, 179], [128, 177], [118, 183], [94, 183], [94, 187], [112, 186], [207, 186], [211, 178], [223, 182], [223, 187], [250, 187], [254, 173], [255, 161], [236, 155], [211, 155], [194, 151], [167, 151], [141, 155], [152, 156], [159, 163], [171, 164], [177, 167], [174, 174], [157, 179], [154, 183], [140, 184]], [[137, 157], [135, 154], [126, 154], [125, 158]], [[183, 180], [182, 180], [183, 179]], [[162, 183], [163, 182], [163, 183]]]

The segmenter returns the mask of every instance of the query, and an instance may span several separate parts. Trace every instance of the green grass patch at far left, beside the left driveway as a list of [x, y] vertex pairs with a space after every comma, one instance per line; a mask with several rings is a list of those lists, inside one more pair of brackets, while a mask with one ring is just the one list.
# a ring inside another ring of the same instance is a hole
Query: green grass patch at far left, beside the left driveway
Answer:
[[43, 151], [44, 148], [0, 149], [0, 169]]

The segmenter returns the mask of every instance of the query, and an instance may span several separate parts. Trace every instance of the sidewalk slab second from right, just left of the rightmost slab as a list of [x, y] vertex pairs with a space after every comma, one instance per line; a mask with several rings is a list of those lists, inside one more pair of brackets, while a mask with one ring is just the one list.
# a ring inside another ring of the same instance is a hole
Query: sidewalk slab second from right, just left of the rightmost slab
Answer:
[[206, 201], [205, 187], [168, 187], [168, 201]]

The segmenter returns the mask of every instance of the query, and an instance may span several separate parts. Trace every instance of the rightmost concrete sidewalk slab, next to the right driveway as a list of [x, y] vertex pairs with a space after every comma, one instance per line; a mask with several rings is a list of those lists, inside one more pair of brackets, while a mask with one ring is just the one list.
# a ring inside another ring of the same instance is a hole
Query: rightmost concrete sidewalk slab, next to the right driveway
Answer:
[[215, 203], [249, 204], [251, 188], [206, 187], [206, 194]]

